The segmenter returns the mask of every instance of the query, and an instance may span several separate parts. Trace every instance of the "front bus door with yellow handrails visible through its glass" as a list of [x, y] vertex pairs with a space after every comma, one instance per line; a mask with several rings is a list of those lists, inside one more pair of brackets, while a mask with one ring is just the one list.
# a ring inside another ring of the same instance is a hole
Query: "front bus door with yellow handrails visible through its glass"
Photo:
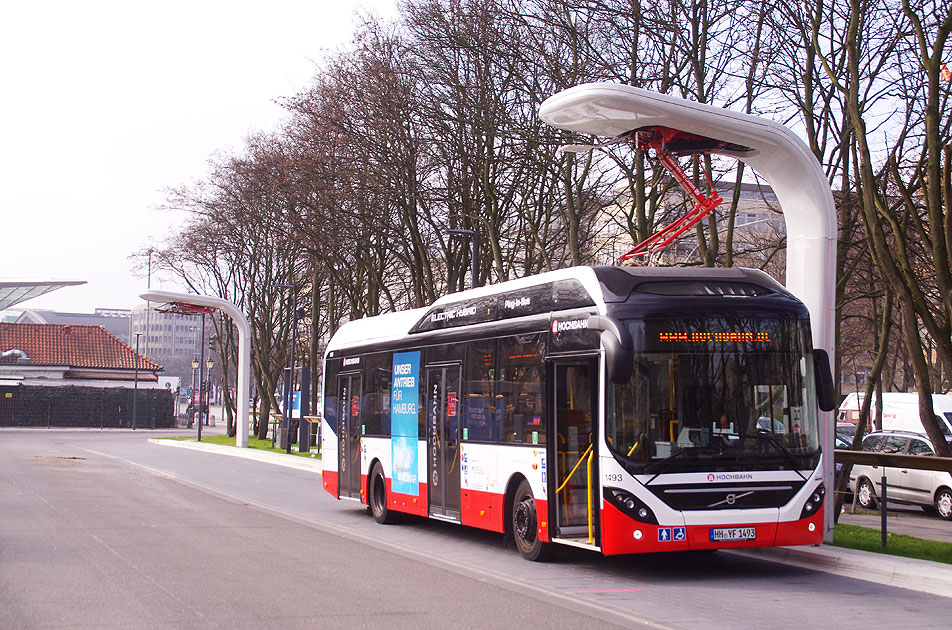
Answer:
[[549, 441], [553, 468], [556, 535], [597, 544], [601, 497], [595, 422], [598, 373], [594, 359], [556, 361], [554, 380], [555, 435]]

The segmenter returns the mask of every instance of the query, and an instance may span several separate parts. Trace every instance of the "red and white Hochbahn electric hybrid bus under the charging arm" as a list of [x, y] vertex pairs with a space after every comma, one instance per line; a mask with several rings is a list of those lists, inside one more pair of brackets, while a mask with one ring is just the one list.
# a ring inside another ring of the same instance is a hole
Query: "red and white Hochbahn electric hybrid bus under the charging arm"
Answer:
[[548, 272], [342, 326], [323, 483], [533, 560], [818, 544], [818, 379], [806, 307], [759, 271]]

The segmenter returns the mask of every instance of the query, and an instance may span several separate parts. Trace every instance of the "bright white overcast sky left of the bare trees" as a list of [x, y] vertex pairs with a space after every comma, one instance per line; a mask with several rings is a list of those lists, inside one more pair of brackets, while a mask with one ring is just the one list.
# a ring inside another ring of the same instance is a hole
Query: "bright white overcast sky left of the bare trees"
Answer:
[[[141, 302], [129, 255], [176, 217], [166, 188], [216, 151], [276, 127], [355, 11], [396, 0], [32, 0], [0, 21], [0, 278], [88, 284], [20, 308], [92, 312]], [[153, 288], [179, 287], [153, 276]]]

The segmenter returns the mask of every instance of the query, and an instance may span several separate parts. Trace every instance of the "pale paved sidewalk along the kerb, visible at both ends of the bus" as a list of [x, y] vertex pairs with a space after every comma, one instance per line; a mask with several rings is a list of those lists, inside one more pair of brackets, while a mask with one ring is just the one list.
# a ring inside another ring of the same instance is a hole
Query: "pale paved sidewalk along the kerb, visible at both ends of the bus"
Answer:
[[[163, 446], [190, 448], [209, 453], [243, 457], [278, 466], [309, 470], [323, 470], [319, 459], [294, 455], [269, 453], [250, 448], [235, 448], [219, 444], [188, 442], [181, 440], [150, 439]], [[944, 522], [944, 521], [943, 521]], [[845, 549], [832, 545], [804, 547], [761, 547], [730, 550], [727, 553], [743, 554], [772, 562], [781, 562], [814, 571], [823, 571], [878, 584], [907, 588], [943, 597], [952, 597], [952, 565], [887, 554]]]

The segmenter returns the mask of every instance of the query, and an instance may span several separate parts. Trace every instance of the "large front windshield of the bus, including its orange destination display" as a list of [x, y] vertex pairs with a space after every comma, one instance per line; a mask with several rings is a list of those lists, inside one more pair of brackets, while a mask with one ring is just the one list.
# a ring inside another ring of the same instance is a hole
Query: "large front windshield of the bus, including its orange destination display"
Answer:
[[630, 320], [629, 382], [609, 384], [605, 438], [633, 474], [812, 470], [809, 329], [795, 319]]

